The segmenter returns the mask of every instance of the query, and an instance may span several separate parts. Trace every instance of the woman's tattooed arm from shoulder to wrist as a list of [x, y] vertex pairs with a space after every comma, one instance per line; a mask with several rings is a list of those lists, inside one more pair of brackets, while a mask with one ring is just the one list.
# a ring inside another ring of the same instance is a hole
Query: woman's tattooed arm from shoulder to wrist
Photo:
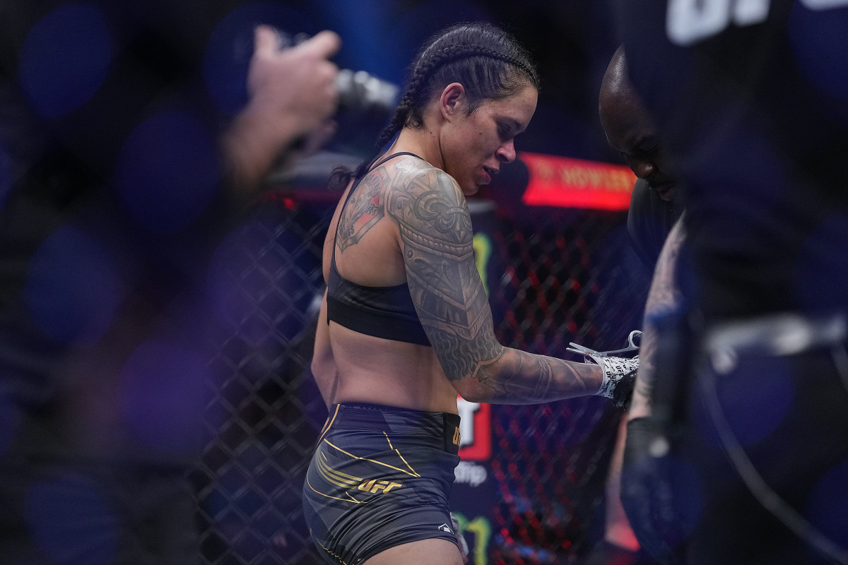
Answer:
[[399, 226], [412, 302], [444, 373], [472, 402], [523, 404], [599, 391], [600, 365], [501, 346], [471, 245], [471, 214], [448, 174], [395, 177], [387, 214]]

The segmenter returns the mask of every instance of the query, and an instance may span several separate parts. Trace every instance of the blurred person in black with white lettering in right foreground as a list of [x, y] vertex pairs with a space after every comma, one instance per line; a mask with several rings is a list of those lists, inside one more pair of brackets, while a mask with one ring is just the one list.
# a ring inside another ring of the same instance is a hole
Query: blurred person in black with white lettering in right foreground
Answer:
[[690, 563], [848, 562], [848, 6], [618, 11], [685, 186], [692, 275], [662, 320], [657, 428], [633, 445], [666, 463], [633, 488], [672, 472]]

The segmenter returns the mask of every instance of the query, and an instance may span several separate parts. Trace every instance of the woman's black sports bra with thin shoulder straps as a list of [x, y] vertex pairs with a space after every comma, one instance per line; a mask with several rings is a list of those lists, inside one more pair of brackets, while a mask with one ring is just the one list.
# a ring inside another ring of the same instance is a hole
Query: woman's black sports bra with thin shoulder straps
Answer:
[[[368, 172], [399, 155], [420, 158], [410, 152], [392, 153], [373, 165]], [[365, 178], [365, 175], [362, 178]], [[342, 205], [342, 213], [362, 178], [357, 179], [350, 187], [348, 197]], [[339, 214], [339, 219], [341, 217]], [[336, 233], [338, 235], [338, 225]], [[421, 320], [418, 319], [416, 307], [412, 303], [409, 285], [404, 283], [394, 286], [363, 286], [345, 279], [336, 268], [335, 244], [332, 246], [330, 277], [326, 291], [326, 323], [329, 324], [330, 320], [360, 334], [421, 346], [430, 345]]]

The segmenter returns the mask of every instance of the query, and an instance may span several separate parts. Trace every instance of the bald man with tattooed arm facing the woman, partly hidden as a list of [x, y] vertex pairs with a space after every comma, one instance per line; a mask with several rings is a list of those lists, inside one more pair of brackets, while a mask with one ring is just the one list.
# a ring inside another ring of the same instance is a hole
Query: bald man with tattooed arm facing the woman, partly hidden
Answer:
[[[628, 210], [628, 233], [633, 249], [644, 265], [654, 274], [648, 301], [645, 304], [644, 327], [640, 358], [642, 369], [637, 376], [639, 396], [633, 398], [628, 417], [622, 419], [611, 458], [606, 483], [604, 540], [584, 561], [585, 565], [629, 565], [653, 562], [651, 532], [644, 528], [644, 515], [633, 516], [631, 525], [622, 506], [622, 464], [628, 438], [628, 427], [639, 426], [650, 418], [650, 379], [656, 364], [656, 347], [652, 333], [653, 316], [672, 308], [677, 298], [674, 277], [677, 250], [683, 241], [678, 224], [683, 213], [680, 190], [667, 161], [656, 126], [644, 104], [639, 100], [628, 78], [627, 58], [622, 47], [613, 54], [601, 83], [599, 114], [607, 140], [618, 149], [633, 173], [637, 175]], [[675, 237], [667, 242], [674, 228]], [[636, 419], [636, 424], [628, 424]], [[638, 434], [638, 432], [637, 432]], [[627, 492], [623, 493], [627, 496]], [[635, 502], [650, 508], [654, 501]], [[632, 506], [632, 505], [628, 505]]]

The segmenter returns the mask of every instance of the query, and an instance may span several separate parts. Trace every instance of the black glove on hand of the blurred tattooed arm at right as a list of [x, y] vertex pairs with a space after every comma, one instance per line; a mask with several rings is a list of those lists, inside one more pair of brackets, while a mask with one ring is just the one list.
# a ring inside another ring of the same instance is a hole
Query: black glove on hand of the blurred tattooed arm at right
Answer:
[[[681, 473], [681, 465], [662, 449], [667, 447], [663, 442], [666, 438], [652, 418], [628, 422], [621, 499], [639, 545], [658, 562], [672, 565], [683, 563], [692, 525], [683, 515], [690, 512], [681, 512], [690, 498], [682, 493], [697, 489], [698, 479]], [[686, 481], [691, 484], [684, 485]]]

